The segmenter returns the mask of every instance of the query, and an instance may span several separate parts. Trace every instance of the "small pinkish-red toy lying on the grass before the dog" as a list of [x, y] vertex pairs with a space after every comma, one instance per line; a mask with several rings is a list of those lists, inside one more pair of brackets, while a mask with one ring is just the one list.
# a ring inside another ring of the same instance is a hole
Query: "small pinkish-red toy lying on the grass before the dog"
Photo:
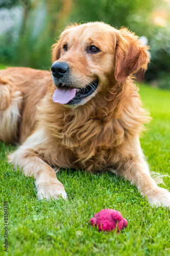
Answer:
[[119, 211], [113, 209], [104, 209], [90, 219], [91, 226], [97, 226], [99, 231], [112, 231], [116, 229], [117, 233], [128, 226], [128, 221], [122, 217]]

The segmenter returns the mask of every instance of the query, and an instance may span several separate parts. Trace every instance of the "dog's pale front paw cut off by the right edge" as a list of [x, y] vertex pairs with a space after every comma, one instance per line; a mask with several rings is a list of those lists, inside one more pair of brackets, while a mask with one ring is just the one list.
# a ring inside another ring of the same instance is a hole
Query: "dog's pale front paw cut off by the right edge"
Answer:
[[147, 197], [151, 206], [162, 206], [170, 209], [170, 193], [168, 190], [157, 187], [156, 189], [153, 189], [147, 193]]

